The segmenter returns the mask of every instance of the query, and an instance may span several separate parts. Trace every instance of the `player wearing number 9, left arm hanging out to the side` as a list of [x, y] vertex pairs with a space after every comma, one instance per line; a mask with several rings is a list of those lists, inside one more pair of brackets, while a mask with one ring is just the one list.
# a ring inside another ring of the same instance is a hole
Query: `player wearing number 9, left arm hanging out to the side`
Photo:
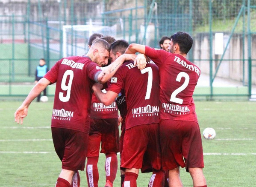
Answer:
[[105, 40], [97, 40], [85, 56], [62, 58], [56, 62], [16, 110], [15, 122], [23, 124], [31, 102], [49, 84], [56, 83], [51, 128], [53, 144], [62, 161], [56, 187], [71, 187], [71, 183], [79, 186], [78, 170], [84, 170], [88, 147], [92, 84], [105, 83], [124, 60], [134, 57], [122, 55], [101, 69], [97, 64], [108, 62], [109, 44]]

